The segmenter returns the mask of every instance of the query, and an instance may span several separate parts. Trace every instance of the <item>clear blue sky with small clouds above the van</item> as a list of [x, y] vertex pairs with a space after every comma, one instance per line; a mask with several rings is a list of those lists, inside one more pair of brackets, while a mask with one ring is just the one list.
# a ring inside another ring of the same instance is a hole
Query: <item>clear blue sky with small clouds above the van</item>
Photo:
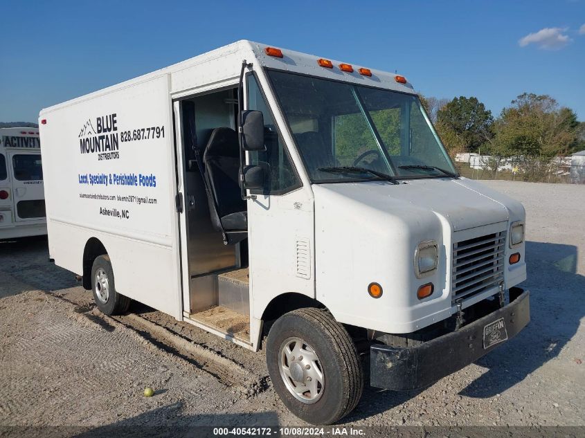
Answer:
[[498, 115], [523, 92], [585, 120], [585, 0], [0, 0], [0, 121], [238, 39], [397, 71]]

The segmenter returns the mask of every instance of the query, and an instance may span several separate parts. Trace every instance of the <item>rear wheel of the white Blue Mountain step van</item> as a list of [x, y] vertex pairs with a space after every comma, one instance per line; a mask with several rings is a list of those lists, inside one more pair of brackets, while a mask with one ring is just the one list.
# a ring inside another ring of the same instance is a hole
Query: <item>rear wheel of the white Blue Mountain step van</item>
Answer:
[[91, 292], [98, 309], [106, 315], [126, 313], [130, 298], [116, 292], [114, 270], [108, 255], [98, 255], [91, 267]]

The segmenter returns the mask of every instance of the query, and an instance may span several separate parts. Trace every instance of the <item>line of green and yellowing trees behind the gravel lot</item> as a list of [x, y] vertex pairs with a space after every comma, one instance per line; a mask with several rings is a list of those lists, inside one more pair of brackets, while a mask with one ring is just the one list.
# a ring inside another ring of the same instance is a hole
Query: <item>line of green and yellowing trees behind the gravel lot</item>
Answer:
[[523, 93], [496, 117], [473, 96], [420, 98], [451, 156], [474, 152], [496, 161], [513, 158], [534, 179], [555, 157], [585, 149], [585, 122], [550, 95]]

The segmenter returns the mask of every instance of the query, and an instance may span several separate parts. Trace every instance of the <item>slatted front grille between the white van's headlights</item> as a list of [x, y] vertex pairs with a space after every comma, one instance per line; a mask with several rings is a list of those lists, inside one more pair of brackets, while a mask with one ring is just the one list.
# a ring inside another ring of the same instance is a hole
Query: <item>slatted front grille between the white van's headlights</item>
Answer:
[[506, 232], [453, 244], [453, 303], [492, 289], [504, 279]]

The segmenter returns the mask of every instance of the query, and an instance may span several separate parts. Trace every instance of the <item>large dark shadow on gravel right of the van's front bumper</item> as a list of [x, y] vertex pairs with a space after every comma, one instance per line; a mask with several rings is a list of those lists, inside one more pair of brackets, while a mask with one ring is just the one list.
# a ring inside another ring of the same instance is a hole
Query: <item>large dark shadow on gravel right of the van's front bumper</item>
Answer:
[[516, 338], [484, 356], [488, 368], [461, 395], [495, 396], [558, 356], [585, 316], [585, 277], [577, 273], [577, 247], [528, 241], [530, 324]]

